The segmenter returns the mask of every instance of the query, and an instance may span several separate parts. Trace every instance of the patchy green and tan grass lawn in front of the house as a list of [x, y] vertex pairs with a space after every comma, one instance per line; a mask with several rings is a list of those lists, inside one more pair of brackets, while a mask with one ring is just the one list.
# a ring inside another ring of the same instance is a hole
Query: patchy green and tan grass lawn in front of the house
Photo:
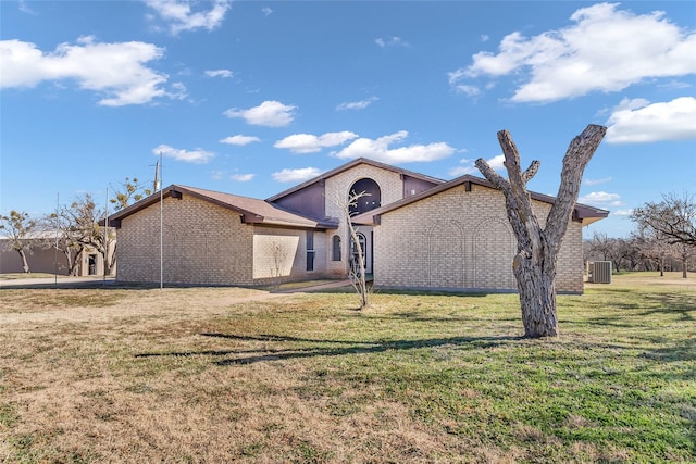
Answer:
[[560, 296], [557, 340], [515, 294], [264, 296], [0, 290], [0, 461], [696, 461], [696, 279]]

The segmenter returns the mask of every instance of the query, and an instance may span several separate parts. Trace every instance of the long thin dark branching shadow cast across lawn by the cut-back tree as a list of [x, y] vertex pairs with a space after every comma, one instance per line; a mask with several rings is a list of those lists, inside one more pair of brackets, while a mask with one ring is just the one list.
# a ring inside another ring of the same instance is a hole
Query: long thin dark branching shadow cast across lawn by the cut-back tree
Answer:
[[[231, 334], [201, 334], [204, 337], [224, 338], [239, 341], [264, 341], [264, 342], [297, 342], [315, 343], [316, 347], [296, 349], [268, 349], [258, 350], [206, 350], [170, 353], [142, 353], [136, 358], [156, 356], [191, 356], [191, 355], [213, 355], [228, 356], [240, 355], [239, 358], [215, 361], [214, 364], [226, 366], [234, 364], [253, 364], [263, 361], [282, 361], [314, 356], [343, 356], [349, 354], [382, 353], [389, 350], [415, 350], [420, 348], [433, 348], [443, 346], [462, 346], [470, 349], [483, 349], [498, 347], [505, 341], [521, 340], [522, 337], [452, 337], [435, 338], [425, 340], [393, 340], [393, 341], [356, 341], [356, 340], [319, 340], [309, 338], [259, 335], [243, 336]], [[324, 344], [330, 344], [325, 347]], [[336, 347], [341, 346], [341, 347]], [[250, 355], [249, 355], [250, 354]]]

